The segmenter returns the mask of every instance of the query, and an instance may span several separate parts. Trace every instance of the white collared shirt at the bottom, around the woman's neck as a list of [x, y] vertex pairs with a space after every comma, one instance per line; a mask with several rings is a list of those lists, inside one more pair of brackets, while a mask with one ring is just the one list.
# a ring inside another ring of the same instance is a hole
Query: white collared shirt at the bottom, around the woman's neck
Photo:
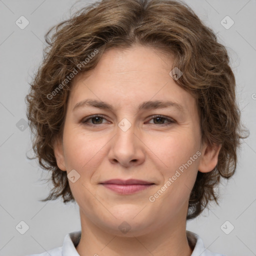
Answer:
[[[202, 239], [191, 231], [186, 231], [188, 244], [193, 248], [191, 256], [225, 256], [223, 254], [214, 253], [207, 250], [202, 242]], [[27, 256], [79, 256], [75, 247], [78, 245], [81, 237], [81, 231], [71, 232], [65, 235], [63, 245], [57, 248], [50, 249], [48, 251], [31, 254]]]

